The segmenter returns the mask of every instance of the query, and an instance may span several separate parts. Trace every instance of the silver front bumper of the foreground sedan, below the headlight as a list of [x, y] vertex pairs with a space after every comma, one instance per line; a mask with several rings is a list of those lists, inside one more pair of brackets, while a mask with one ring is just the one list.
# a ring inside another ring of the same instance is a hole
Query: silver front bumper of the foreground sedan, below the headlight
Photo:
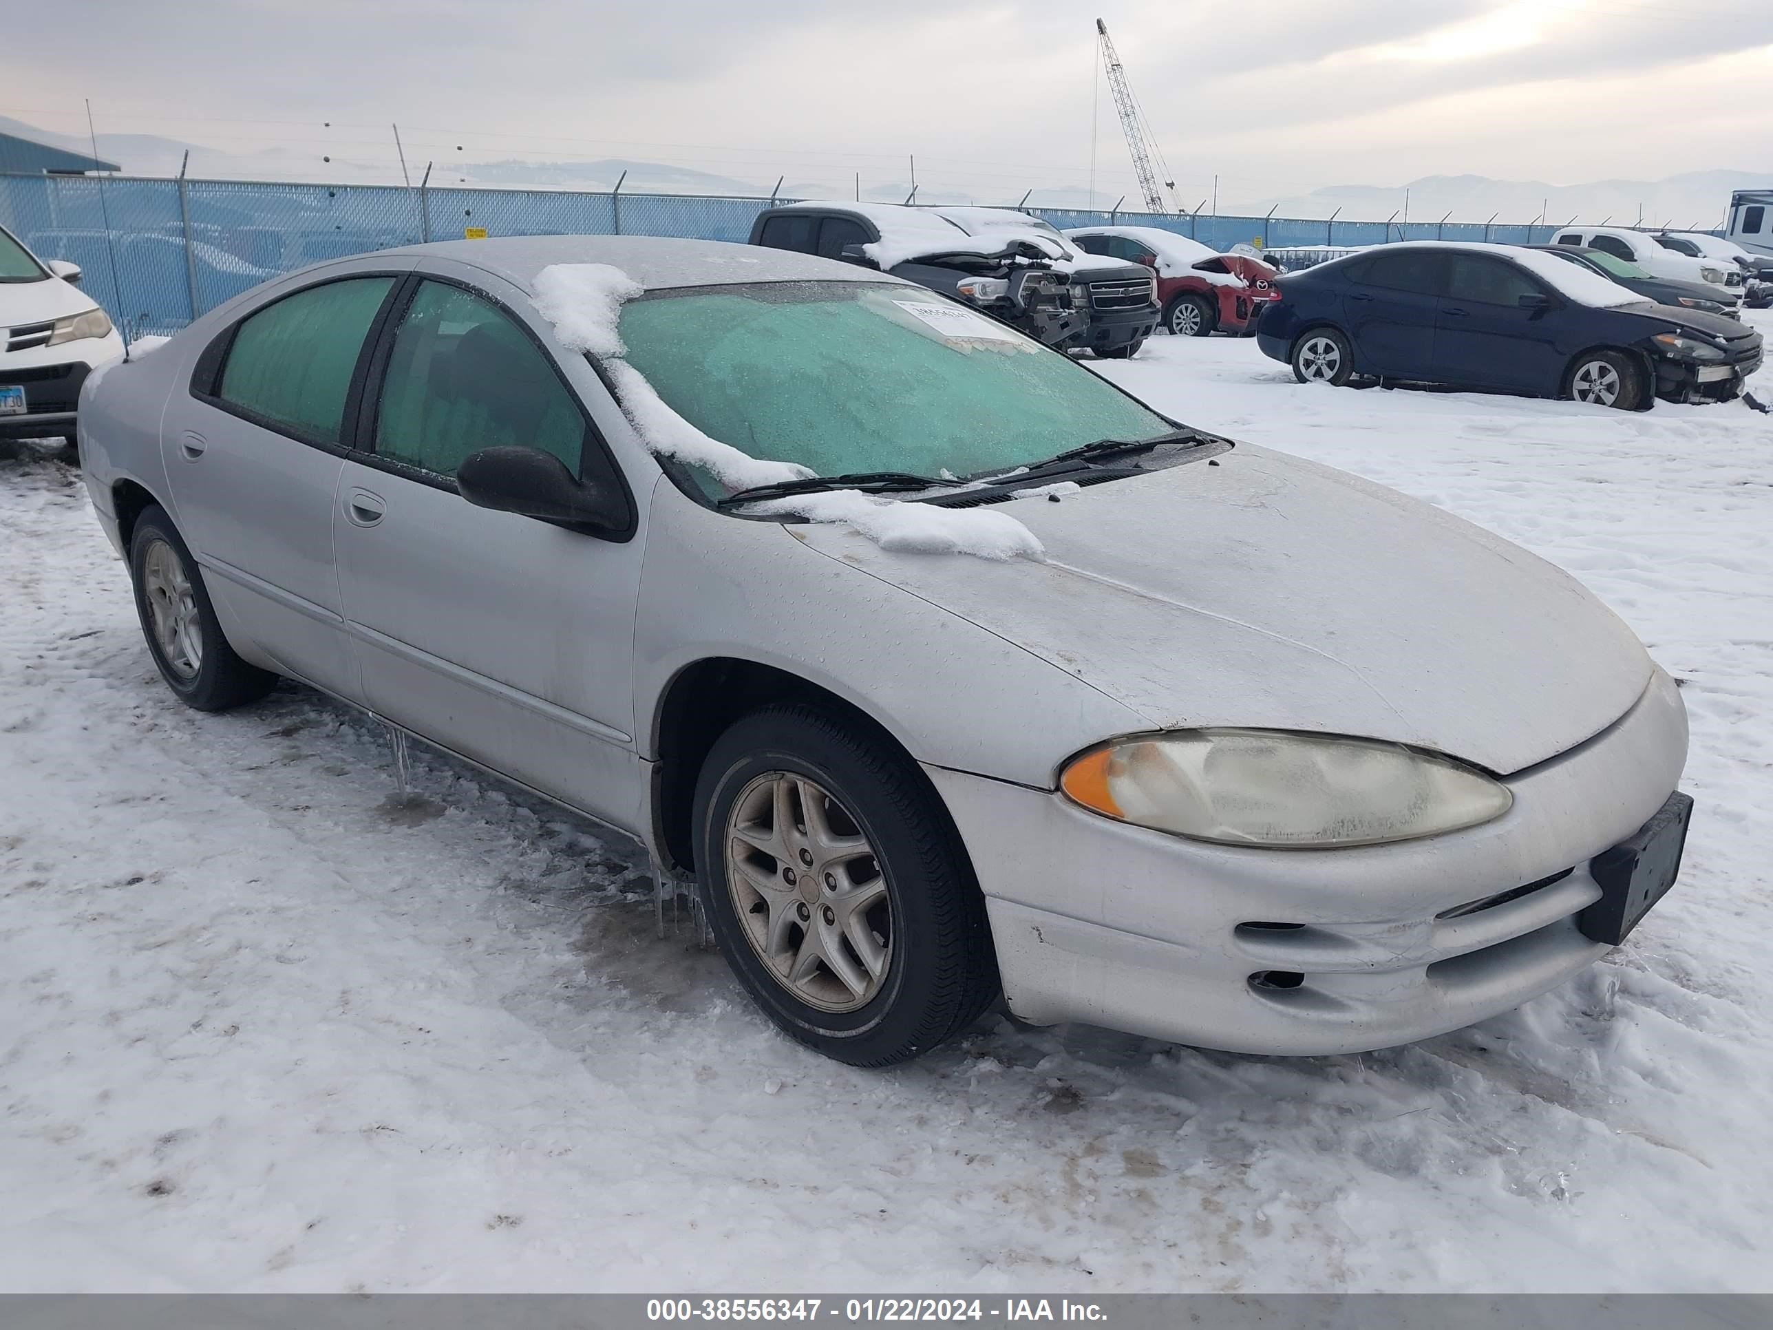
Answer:
[[1601, 896], [1589, 860], [1656, 814], [1684, 761], [1686, 709], [1656, 670], [1612, 727], [1511, 777], [1496, 821], [1392, 846], [1211, 846], [927, 770], [1021, 1020], [1319, 1055], [1470, 1025], [1603, 956], [1576, 927]]

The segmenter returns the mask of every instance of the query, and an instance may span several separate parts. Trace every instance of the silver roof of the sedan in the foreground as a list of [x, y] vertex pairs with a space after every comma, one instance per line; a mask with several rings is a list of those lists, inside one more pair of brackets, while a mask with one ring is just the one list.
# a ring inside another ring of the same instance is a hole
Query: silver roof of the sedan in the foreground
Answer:
[[667, 239], [660, 236], [493, 236], [402, 245], [381, 250], [390, 257], [456, 259], [473, 264], [525, 291], [535, 275], [553, 264], [605, 262], [621, 268], [647, 291], [690, 286], [734, 286], [739, 282], [899, 282], [835, 259], [732, 245], [718, 239]]

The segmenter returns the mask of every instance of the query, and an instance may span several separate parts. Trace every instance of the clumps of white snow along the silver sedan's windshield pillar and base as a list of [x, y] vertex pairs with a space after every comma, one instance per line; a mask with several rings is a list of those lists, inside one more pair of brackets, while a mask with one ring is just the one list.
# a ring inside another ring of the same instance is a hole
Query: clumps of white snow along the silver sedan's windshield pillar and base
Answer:
[[[658, 395], [647, 378], [624, 360], [622, 305], [645, 287], [605, 262], [551, 264], [535, 277], [535, 310], [553, 325], [569, 351], [598, 356], [615, 385], [622, 413], [652, 452], [700, 466], [730, 493], [814, 472], [793, 461], [754, 458], [704, 434]], [[759, 504], [759, 511], [853, 527], [883, 550], [908, 553], [970, 553], [979, 559], [1044, 559], [1041, 543], [1004, 512], [933, 509], [927, 504], [881, 500], [860, 489], [793, 495]]]

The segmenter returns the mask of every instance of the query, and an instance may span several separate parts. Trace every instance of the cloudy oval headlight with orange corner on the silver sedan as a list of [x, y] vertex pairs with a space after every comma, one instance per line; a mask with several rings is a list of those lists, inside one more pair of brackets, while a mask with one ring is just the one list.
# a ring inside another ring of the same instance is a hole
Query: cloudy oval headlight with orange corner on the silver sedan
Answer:
[[1273, 729], [1115, 739], [1074, 757], [1058, 786], [1085, 809], [1154, 832], [1298, 849], [1457, 832], [1514, 803], [1507, 786], [1450, 757]]

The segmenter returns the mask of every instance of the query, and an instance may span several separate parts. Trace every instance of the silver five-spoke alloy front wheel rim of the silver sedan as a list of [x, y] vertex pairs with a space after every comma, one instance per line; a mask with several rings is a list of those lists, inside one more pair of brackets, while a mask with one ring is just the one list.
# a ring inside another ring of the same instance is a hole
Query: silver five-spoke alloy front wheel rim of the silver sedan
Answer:
[[727, 816], [727, 890], [752, 951], [801, 1002], [867, 1005], [892, 965], [886, 874], [855, 816], [817, 780], [766, 771]]

